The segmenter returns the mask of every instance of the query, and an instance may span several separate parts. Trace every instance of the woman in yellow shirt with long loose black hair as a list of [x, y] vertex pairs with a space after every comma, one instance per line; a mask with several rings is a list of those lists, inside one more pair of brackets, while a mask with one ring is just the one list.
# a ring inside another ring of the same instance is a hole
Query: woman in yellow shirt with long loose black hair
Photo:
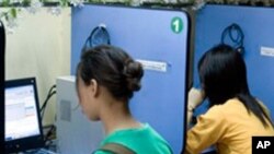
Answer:
[[189, 122], [193, 110], [208, 98], [209, 109], [187, 131], [186, 152], [216, 145], [221, 154], [251, 154], [255, 135], [274, 135], [266, 107], [250, 94], [242, 56], [228, 45], [213, 47], [198, 61], [202, 91], [189, 93]]

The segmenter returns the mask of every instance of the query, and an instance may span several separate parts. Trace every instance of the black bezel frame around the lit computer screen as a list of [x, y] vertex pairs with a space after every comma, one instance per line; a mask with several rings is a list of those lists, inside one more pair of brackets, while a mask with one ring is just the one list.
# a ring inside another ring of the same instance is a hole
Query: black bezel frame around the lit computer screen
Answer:
[[25, 78], [25, 79], [15, 79], [15, 80], [5, 81], [4, 88], [27, 86], [27, 85], [32, 85], [34, 88], [35, 102], [36, 102], [36, 112], [38, 116], [37, 118], [38, 118], [39, 134], [26, 137], [26, 138], [22, 138], [22, 139], [4, 141], [5, 153], [22, 152], [22, 151], [26, 151], [26, 150], [31, 150], [31, 149], [43, 147], [45, 145], [43, 127], [42, 127], [42, 118], [41, 118], [41, 114], [39, 114], [38, 93], [37, 93], [35, 78]]

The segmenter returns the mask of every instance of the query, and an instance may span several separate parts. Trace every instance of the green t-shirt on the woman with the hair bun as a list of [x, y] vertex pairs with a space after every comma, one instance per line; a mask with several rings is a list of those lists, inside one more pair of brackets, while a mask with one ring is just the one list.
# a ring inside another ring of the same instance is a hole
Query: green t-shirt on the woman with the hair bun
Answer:
[[[102, 141], [101, 146], [113, 142], [123, 144], [137, 154], [172, 154], [168, 142], [147, 123], [137, 129], [115, 131]], [[94, 154], [111, 153], [96, 151]]]

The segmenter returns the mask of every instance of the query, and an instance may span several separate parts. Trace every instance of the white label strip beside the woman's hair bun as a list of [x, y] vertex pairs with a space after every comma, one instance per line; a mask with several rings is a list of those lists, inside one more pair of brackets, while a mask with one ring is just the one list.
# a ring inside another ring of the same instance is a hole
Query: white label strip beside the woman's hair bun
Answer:
[[159, 72], [167, 72], [168, 70], [167, 62], [140, 60], [140, 59], [137, 59], [136, 61], [139, 61], [145, 70], [152, 70], [152, 71], [159, 71]]

